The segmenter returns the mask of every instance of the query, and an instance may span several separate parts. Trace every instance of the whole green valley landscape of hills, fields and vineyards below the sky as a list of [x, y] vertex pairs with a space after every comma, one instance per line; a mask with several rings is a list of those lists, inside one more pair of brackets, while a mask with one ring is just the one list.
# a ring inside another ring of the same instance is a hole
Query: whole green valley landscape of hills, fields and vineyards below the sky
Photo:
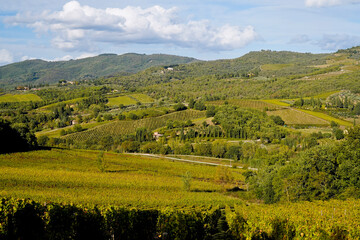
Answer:
[[[359, 61], [354, 47], [0, 67], [0, 208], [28, 203], [44, 224], [69, 206], [101, 224], [109, 209], [130, 222], [151, 213], [151, 231], [173, 239], [213, 239], [225, 220], [234, 239], [272, 239], [276, 226], [287, 239], [357, 239]], [[99, 63], [98, 75], [84, 67]], [[53, 71], [62, 78], [44, 80]], [[184, 219], [203, 235], [171, 230]], [[116, 226], [106, 224], [109, 235]]]

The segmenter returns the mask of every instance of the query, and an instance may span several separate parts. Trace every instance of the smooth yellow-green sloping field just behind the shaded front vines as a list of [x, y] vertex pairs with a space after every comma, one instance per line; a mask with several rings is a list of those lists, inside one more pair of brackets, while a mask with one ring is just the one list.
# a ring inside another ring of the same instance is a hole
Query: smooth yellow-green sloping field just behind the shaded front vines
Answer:
[[[97, 151], [41, 150], [0, 155], [0, 196], [78, 204], [131, 206], [223, 205], [239, 203], [214, 179], [216, 167]], [[241, 169], [229, 168], [234, 182]], [[191, 191], [183, 175], [192, 176]]]

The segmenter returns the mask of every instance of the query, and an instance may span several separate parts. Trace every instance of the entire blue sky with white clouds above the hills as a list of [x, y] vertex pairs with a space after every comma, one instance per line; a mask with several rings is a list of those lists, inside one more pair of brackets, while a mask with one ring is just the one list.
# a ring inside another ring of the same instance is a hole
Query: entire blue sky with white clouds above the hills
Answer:
[[102, 53], [230, 59], [360, 45], [360, 0], [0, 0], [0, 66]]

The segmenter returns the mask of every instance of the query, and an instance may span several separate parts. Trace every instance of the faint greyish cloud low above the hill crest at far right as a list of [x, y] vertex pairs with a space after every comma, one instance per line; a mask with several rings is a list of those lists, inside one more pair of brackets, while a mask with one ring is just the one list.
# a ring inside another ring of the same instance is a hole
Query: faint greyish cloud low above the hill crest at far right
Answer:
[[325, 34], [316, 45], [323, 50], [334, 51], [360, 45], [360, 37], [347, 34]]

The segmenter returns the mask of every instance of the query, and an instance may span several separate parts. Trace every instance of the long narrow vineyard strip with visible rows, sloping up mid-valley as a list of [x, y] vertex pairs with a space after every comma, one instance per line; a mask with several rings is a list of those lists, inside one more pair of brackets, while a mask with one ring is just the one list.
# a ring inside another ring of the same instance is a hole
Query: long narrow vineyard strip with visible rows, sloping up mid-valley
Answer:
[[106, 135], [116, 136], [123, 134], [131, 134], [134, 133], [137, 128], [142, 127], [145, 127], [149, 130], [155, 130], [157, 128], [165, 126], [166, 122], [169, 120], [186, 121], [188, 119], [196, 119], [204, 116], [205, 112], [186, 110], [170, 113], [160, 117], [144, 118], [136, 121], [114, 121], [95, 128], [91, 128], [84, 132], [67, 135], [64, 138], [72, 140], [74, 142], [85, 142], [88, 139], [96, 141], [100, 140]]

